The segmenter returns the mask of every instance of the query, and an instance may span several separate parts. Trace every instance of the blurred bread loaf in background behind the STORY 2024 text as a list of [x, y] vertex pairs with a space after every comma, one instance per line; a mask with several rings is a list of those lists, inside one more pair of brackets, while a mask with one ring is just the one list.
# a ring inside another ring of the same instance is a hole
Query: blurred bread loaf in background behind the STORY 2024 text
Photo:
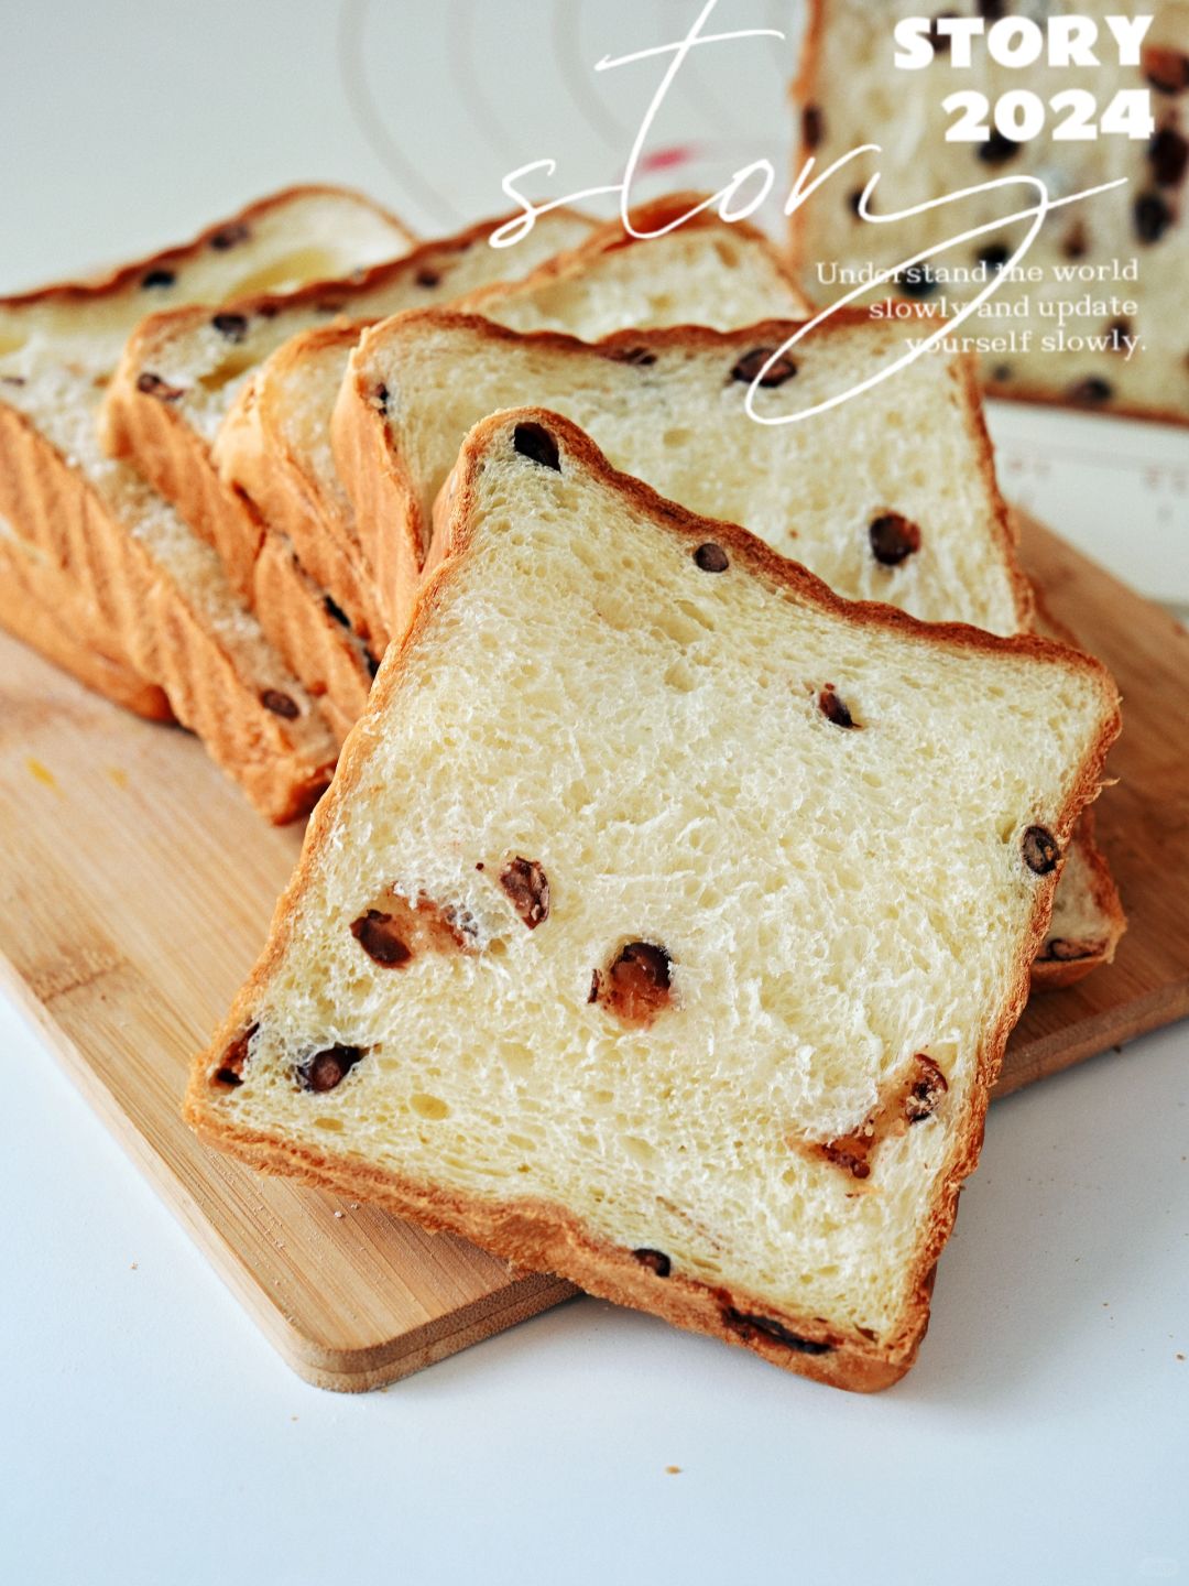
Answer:
[[[980, 16], [991, 27], [1011, 10], [954, 0], [940, 14]], [[1035, 11], [1043, 25], [1049, 11], [1062, 8], [1019, 10]], [[832, 303], [848, 290], [832, 279], [834, 266], [889, 270], [921, 249], [988, 227], [981, 236], [935, 255], [924, 273], [905, 276], [899, 289], [900, 309], [910, 306], [908, 300], [927, 309], [945, 297], [953, 316], [996, 276], [1029, 224], [996, 222], [1027, 208], [1035, 193], [1023, 186], [1000, 187], [875, 224], [856, 211], [875, 171], [877, 216], [997, 178], [1038, 176], [1053, 198], [1126, 178], [1122, 187], [1049, 214], [1021, 260], [1021, 276], [1000, 281], [988, 303], [997, 317], [970, 319], [954, 333], [1000, 343], [984, 354], [981, 366], [996, 396], [1189, 423], [1189, 6], [1175, 0], [1140, 8], [1153, 13], [1153, 22], [1138, 67], [1119, 65], [1107, 30], [1110, 14], [1134, 16], [1135, 6], [1080, 0], [1064, 10], [1097, 25], [1099, 38], [1107, 41], [1099, 46], [1100, 63], [1092, 71], [1049, 67], [1043, 57], [1027, 68], [1002, 67], [989, 59], [983, 40], [975, 40], [972, 65], [961, 70], [942, 49], [923, 70], [897, 71], [893, 29], [902, 17], [921, 14], [915, 0], [810, 0], [794, 84], [801, 128], [794, 168], [813, 159], [818, 176], [862, 146], [877, 144], [880, 152], [850, 160], [794, 213], [791, 244], [799, 279], [815, 301]], [[1021, 90], [1051, 105], [1061, 94], [1076, 90], [1084, 97], [1091, 89], [1099, 114], [1111, 106], [1116, 92], [1140, 94], [1151, 102], [1156, 133], [1132, 140], [1103, 132], [1070, 141], [1070, 109], [1057, 100], [1045, 128], [1024, 144], [1002, 133], [981, 143], [948, 143], [954, 114], [943, 102], [956, 89], [983, 94], [992, 106], [1004, 94]], [[1138, 278], [1116, 279], [1114, 270], [1130, 260], [1138, 260]], [[1034, 266], [1042, 268], [1042, 281], [1023, 274]], [[956, 279], [954, 270], [975, 271], [975, 278]], [[1057, 271], [1075, 274], [1062, 281]], [[889, 287], [875, 295], [888, 297]], [[1064, 325], [1056, 317], [1062, 311]], [[919, 333], [921, 322], [915, 330]], [[1054, 344], [1059, 330], [1062, 346]], [[1130, 351], [1127, 338], [1137, 338], [1137, 351]]]

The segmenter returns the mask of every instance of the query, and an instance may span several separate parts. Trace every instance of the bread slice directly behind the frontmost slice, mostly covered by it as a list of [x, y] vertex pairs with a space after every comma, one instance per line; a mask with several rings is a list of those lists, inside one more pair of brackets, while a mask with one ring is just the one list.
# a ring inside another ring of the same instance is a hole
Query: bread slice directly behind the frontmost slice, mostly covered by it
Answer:
[[[755, 423], [744, 411], [747, 385], [796, 328], [680, 327], [590, 346], [433, 312], [371, 330], [352, 358], [336, 425], [354, 466], [346, 484], [363, 508], [365, 554], [377, 587], [395, 596], [393, 620], [411, 603], [407, 580], [463, 436], [499, 408], [539, 401], [582, 425], [617, 468], [696, 512], [745, 523], [848, 600], [889, 601], [926, 622], [1026, 631], [1030, 590], [969, 362], [918, 358], [804, 422]], [[835, 314], [774, 368], [758, 411], [810, 408], [900, 351], [886, 320], [861, 309]], [[1110, 963], [1126, 926], [1089, 829], [1070, 852], [1061, 931], [1034, 966], [1040, 988]]]

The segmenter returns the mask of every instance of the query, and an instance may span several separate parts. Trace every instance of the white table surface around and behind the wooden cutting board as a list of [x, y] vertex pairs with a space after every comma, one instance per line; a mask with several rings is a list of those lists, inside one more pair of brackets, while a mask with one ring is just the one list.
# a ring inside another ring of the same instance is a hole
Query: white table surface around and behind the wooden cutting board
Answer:
[[[655, 78], [590, 63], [694, 11], [11, 6], [0, 290], [287, 181], [355, 182], [428, 232], [504, 208], [499, 176], [544, 154], [566, 189], [614, 179]], [[783, 157], [782, 46], [729, 51], [671, 105], [682, 179]], [[1183, 435], [1016, 408], [992, 428], [1016, 500], [1189, 603]], [[319, 1393], [2, 994], [0, 1053], [0, 1581], [1189, 1578], [1186, 1026], [992, 1109], [919, 1364], [872, 1399], [594, 1301]]]

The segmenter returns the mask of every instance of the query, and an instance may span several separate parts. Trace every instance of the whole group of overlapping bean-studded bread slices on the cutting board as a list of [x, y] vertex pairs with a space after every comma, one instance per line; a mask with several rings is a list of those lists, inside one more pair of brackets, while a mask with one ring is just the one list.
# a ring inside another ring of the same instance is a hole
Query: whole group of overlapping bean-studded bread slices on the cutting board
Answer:
[[271, 820], [338, 763], [208, 1139], [881, 1386], [1029, 980], [1122, 931], [1114, 688], [961, 357], [777, 355], [698, 195], [499, 225], [300, 189], [0, 305], [0, 622]]

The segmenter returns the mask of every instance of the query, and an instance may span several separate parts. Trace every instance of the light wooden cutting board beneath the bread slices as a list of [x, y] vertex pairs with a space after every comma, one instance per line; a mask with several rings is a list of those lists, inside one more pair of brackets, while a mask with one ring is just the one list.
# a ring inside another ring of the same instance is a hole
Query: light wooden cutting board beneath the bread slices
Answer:
[[[1099, 831], [1132, 923], [1110, 969], [1032, 1001], [999, 1094], [1189, 1012], [1189, 636], [1032, 523], [1024, 558], [1124, 693]], [[295, 1370], [361, 1389], [572, 1288], [257, 1177], [181, 1123], [190, 1056], [263, 944], [300, 841], [255, 817], [193, 739], [0, 634], [0, 979]]]

